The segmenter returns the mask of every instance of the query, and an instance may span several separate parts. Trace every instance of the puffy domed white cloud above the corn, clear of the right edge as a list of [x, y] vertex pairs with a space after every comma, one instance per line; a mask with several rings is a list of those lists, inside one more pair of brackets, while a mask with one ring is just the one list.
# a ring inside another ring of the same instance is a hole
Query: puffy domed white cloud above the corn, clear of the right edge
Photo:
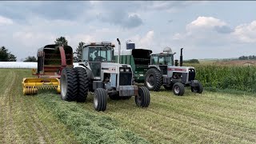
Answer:
[[198, 17], [186, 25], [184, 33], [176, 33], [172, 40], [191, 45], [219, 46], [230, 42], [233, 30], [230, 26], [214, 17]]

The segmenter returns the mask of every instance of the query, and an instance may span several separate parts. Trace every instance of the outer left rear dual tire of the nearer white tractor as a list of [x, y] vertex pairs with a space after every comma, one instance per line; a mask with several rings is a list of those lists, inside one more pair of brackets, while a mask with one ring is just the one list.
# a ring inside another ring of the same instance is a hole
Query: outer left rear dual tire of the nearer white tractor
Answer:
[[72, 67], [62, 69], [61, 98], [64, 101], [74, 101], [78, 94], [78, 78]]

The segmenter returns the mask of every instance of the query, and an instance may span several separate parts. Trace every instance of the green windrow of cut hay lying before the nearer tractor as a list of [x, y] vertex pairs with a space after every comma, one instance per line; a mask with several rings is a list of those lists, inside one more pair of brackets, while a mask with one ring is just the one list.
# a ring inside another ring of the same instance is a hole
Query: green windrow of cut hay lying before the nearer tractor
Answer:
[[63, 102], [54, 94], [38, 94], [47, 108], [74, 132], [79, 143], [149, 143], [130, 130], [120, 127], [120, 122], [82, 109], [75, 102]]

